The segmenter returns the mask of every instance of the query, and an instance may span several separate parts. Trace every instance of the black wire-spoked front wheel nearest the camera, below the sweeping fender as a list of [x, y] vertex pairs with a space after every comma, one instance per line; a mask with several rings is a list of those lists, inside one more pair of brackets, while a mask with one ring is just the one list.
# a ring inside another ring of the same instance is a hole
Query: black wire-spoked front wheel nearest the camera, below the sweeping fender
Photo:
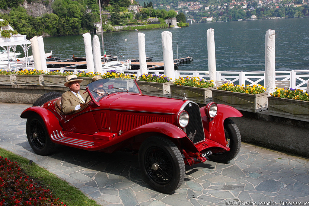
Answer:
[[138, 162], [146, 182], [159, 192], [171, 193], [184, 181], [184, 159], [167, 138], [146, 139], [139, 149]]

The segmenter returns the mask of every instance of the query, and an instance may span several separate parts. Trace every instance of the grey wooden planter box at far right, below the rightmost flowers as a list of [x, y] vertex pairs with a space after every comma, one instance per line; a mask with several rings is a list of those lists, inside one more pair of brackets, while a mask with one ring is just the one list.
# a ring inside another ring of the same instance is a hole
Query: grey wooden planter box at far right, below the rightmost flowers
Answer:
[[309, 122], [309, 102], [268, 97], [269, 115]]

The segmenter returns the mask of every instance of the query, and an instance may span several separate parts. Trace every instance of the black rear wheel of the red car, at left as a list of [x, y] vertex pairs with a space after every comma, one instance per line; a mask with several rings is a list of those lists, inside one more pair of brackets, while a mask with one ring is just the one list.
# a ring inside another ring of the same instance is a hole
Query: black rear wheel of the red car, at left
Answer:
[[55, 143], [50, 140], [45, 124], [39, 115], [28, 118], [26, 132], [29, 144], [35, 153], [48, 155], [53, 151]]

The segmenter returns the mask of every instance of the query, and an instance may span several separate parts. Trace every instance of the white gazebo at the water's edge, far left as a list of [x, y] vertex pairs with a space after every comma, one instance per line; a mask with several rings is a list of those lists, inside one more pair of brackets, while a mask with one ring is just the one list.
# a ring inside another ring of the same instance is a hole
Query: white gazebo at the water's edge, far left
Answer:
[[[0, 21], [4, 21], [3, 19], [0, 19]], [[11, 27], [10, 24], [8, 24], [7, 26], [3, 26], [0, 27], [0, 31], [2, 32], [3, 30], [12, 30], [14, 31], [14, 29]], [[16, 47], [17, 45], [20, 45], [23, 48], [23, 52], [25, 54], [26, 57], [26, 66], [28, 65], [28, 49], [30, 48], [31, 45], [28, 46], [28, 44], [31, 44], [31, 42], [29, 40], [26, 39], [26, 35], [21, 35], [21, 34], [16, 34], [16, 35], [12, 35], [11, 37], [2, 37], [1, 33], [0, 33], [0, 47], [2, 47], [7, 55], [8, 55], [8, 68], [11, 69], [11, 65], [10, 65], [10, 58], [9, 58], [9, 53], [10, 50], [12, 48], [13, 52], [16, 53]], [[17, 65], [16, 63], [16, 57], [15, 57], [15, 65]]]

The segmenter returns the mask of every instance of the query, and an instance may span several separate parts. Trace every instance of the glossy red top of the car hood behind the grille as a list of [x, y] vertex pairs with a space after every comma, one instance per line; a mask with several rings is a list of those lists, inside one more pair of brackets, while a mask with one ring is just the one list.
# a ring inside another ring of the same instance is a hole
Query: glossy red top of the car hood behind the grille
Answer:
[[[118, 96], [118, 95], [117, 95]], [[176, 113], [183, 105], [180, 99], [154, 97], [141, 94], [122, 93], [120, 97], [110, 103], [110, 109]], [[116, 95], [115, 95], [116, 98]], [[104, 100], [103, 100], [104, 101]]]

